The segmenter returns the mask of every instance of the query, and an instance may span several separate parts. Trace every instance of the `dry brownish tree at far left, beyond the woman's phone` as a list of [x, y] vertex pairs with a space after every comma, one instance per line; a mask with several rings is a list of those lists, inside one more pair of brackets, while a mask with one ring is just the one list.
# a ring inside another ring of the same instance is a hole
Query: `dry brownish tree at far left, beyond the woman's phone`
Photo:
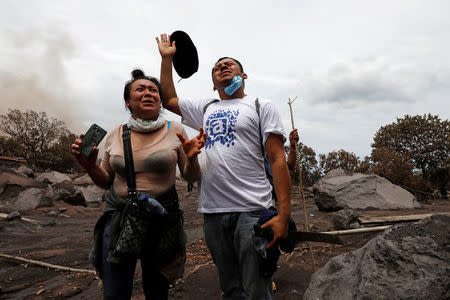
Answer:
[[70, 134], [63, 121], [48, 118], [45, 112], [21, 112], [18, 109], [9, 109], [6, 115], [0, 115], [0, 132], [6, 134], [4, 138], [18, 145], [15, 155], [43, 168], [51, 165], [55, 156], [62, 155], [62, 152], [51, 149], [62, 136]]

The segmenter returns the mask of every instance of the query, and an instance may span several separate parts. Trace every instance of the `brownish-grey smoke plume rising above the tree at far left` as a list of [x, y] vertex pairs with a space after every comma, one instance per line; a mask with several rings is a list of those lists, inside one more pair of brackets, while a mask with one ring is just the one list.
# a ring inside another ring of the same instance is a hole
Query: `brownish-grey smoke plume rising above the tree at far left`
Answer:
[[[3, 41], [2, 41], [3, 39]], [[50, 29], [4, 32], [0, 41], [0, 114], [31, 109], [65, 122], [73, 132], [79, 97], [68, 83], [66, 63], [76, 54], [68, 34]]]

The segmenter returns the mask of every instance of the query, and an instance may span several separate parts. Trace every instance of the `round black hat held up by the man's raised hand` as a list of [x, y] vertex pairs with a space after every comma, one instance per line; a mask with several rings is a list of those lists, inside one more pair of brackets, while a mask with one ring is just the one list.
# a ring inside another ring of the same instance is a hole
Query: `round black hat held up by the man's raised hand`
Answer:
[[177, 52], [173, 56], [173, 67], [181, 78], [189, 78], [198, 70], [198, 54], [189, 35], [181, 30], [170, 35], [170, 43], [175, 41]]

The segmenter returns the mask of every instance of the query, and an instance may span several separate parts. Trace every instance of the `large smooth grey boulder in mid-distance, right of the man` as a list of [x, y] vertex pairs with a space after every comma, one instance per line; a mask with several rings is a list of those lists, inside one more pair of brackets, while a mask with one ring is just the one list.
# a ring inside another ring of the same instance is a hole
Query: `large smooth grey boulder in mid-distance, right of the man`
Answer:
[[314, 202], [322, 211], [420, 207], [410, 192], [374, 174], [333, 170], [321, 178], [313, 189]]

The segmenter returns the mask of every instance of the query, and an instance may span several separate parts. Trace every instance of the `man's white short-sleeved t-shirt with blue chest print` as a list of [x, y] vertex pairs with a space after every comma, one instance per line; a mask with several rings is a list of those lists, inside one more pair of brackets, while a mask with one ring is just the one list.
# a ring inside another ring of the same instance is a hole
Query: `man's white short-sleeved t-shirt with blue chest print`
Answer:
[[[203, 109], [212, 99], [179, 99], [182, 123], [199, 129], [207, 140], [199, 155], [201, 213], [244, 212], [268, 208], [272, 187], [261, 153], [255, 97], [222, 100]], [[261, 132], [265, 144], [270, 133], [286, 135], [274, 104], [259, 98]]]

